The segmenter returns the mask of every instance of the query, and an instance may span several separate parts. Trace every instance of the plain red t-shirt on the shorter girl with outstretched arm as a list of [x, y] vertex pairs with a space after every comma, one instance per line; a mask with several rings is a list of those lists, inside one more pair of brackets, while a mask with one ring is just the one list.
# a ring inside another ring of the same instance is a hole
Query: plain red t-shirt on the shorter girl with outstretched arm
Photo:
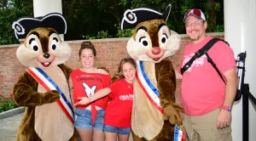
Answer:
[[131, 109], [133, 101], [133, 84], [120, 79], [113, 82], [108, 97], [112, 99], [107, 106], [104, 124], [113, 127], [131, 127]]

